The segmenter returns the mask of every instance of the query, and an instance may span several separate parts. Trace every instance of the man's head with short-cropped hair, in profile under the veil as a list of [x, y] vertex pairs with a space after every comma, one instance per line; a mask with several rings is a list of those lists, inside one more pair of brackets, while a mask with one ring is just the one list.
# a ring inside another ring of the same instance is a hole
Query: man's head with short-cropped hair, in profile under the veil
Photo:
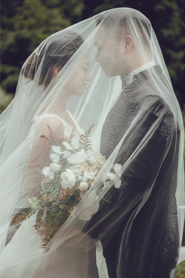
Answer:
[[96, 26], [96, 61], [107, 76], [127, 75], [151, 61], [151, 24], [140, 12], [112, 9], [97, 17]]

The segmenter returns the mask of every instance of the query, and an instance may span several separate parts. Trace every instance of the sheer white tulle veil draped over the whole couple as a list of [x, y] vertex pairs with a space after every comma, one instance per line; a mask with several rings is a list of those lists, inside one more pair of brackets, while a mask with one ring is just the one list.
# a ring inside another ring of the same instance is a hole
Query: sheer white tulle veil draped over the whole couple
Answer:
[[[89, 129], [91, 149], [77, 152]], [[1, 115], [1, 277], [174, 278], [183, 142], [180, 107], [144, 15], [113, 9], [48, 37]], [[44, 245], [56, 202], [24, 213], [47, 184], [65, 198], [76, 180], [80, 197]]]

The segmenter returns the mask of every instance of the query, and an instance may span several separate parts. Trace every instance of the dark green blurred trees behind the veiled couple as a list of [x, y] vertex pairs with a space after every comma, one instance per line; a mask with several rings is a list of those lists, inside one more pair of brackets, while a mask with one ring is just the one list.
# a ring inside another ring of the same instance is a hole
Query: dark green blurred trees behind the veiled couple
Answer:
[[185, 103], [184, 0], [6, 0], [1, 3], [2, 88], [7, 93], [15, 93], [24, 61], [45, 38], [117, 7], [134, 8], [151, 21], [182, 108]]

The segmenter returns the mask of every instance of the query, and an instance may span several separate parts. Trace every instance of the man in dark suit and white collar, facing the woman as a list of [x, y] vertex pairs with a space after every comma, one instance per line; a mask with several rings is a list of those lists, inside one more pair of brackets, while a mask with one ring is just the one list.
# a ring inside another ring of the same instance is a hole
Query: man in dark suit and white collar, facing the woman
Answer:
[[115, 161], [123, 165], [150, 136], [124, 170], [120, 188], [111, 187], [104, 196], [110, 202], [100, 203], [84, 230], [100, 239], [109, 278], [170, 278], [179, 256], [175, 192], [180, 131], [162, 97], [164, 88], [169, 94], [172, 90], [150, 53], [150, 23], [132, 19], [138, 40], [120, 9], [97, 19], [96, 61], [106, 76], [120, 75], [123, 88], [104, 122], [100, 152], [108, 158], [125, 135]]

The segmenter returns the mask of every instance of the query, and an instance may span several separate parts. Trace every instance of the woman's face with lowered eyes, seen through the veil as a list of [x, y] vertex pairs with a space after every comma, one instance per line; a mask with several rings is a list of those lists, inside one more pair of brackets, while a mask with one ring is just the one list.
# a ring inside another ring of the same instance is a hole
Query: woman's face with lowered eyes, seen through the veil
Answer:
[[70, 95], [83, 95], [89, 81], [89, 53], [86, 52], [69, 80], [68, 92], [70, 91]]

